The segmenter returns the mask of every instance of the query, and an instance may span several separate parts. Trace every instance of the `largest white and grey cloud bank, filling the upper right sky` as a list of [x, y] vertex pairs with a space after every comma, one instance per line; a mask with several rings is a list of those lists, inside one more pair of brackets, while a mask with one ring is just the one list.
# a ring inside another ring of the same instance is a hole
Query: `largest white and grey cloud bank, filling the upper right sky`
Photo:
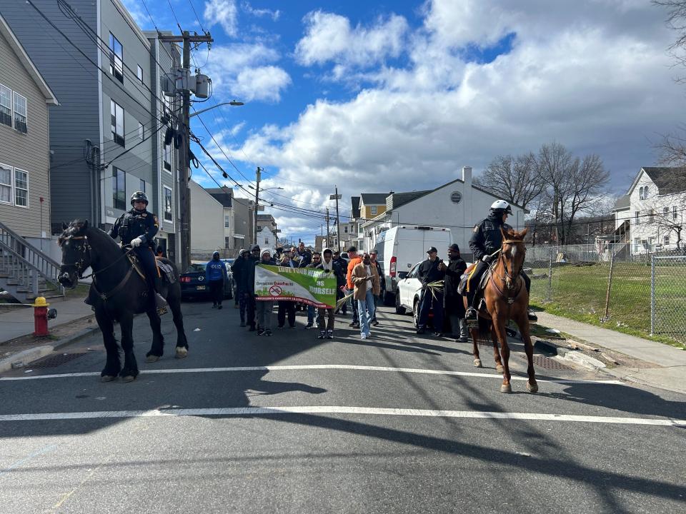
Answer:
[[[297, 206], [332, 208], [334, 184], [347, 202], [362, 191], [432, 188], [462, 166], [478, 173], [499, 153], [536, 151], [553, 139], [575, 153], [599, 153], [613, 187], [622, 188], [627, 174], [654, 163], [648, 139], [680, 121], [683, 89], [665, 54], [674, 34], [650, 3], [434, 0], [424, 16], [420, 29], [403, 35], [407, 66], [358, 69], [369, 86], [353, 98], [314, 101], [289, 126], [265, 126], [244, 141], [252, 159], [279, 168], [272, 183]], [[348, 51], [369, 31], [312, 14], [297, 58], [349, 70], [402, 51], [402, 44]], [[488, 64], [466, 58], [468, 46], [492, 46], [511, 32], [507, 54]], [[310, 226], [313, 236], [319, 223], [289, 221]]]

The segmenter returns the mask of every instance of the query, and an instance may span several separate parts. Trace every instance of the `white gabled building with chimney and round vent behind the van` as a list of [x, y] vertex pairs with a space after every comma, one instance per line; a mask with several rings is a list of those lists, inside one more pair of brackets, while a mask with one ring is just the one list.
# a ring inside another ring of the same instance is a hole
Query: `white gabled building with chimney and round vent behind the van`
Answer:
[[[386, 197], [384, 213], [362, 223], [365, 250], [373, 248], [382, 231], [397, 225], [439, 226], [449, 228], [452, 241], [459, 245], [462, 256], [470, 258], [469, 238], [472, 228], [488, 216], [491, 204], [498, 196], [472, 184], [472, 168], [462, 168], [454, 181], [429, 191], [391, 193]], [[512, 205], [507, 223], [515, 229], [524, 228], [525, 210]]]

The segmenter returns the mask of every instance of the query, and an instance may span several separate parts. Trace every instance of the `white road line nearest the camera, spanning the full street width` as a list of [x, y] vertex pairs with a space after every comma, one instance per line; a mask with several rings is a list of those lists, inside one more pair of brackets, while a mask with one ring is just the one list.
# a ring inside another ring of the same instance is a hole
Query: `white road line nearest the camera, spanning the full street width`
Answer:
[[256, 415], [292, 415], [292, 414], [362, 414], [422, 416], [429, 418], [468, 418], [494, 420], [534, 420], [565, 421], [577, 423], [615, 423], [620, 425], [657, 425], [668, 427], [685, 427], [686, 420], [666, 418], [622, 418], [617, 416], [540, 414], [540, 413], [506, 413], [479, 412], [473, 410], [428, 410], [403, 408], [345, 407], [345, 406], [293, 406], [293, 407], [228, 407], [228, 408], [189, 408], [165, 410], [100, 410], [94, 412], [71, 413], [36, 413], [4, 414], [0, 422], [6, 421], [43, 421], [70, 419], [102, 418], [156, 418], [165, 416], [256, 416]]

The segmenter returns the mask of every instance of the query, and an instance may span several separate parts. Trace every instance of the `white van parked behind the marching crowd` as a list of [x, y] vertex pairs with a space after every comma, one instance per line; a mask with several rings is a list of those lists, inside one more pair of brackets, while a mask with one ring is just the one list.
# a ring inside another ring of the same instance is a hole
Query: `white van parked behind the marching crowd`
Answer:
[[427, 249], [435, 246], [439, 258], [447, 261], [448, 246], [452, 244], [449, 228], [399, 225], [389, 228], [377, 236], [377, 260], [381, 263], [386, 277], [387, 306], [395, 304], [399, 273], [403, 276], [420, 261], [427, 259]]

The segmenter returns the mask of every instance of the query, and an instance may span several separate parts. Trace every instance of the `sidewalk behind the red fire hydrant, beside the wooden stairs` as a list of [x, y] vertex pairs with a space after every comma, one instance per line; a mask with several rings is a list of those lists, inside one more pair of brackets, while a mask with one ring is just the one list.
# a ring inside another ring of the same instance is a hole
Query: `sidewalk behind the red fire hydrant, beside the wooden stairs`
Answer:
[[[83, 298], [51, 298], [48, 300], [50, 308], [57, 310], [57, 318], [48, 321], [48, 328], [91, 316], [90, 306]], [[11, 307], [12, 311], [0, 313], [0, 344], [21, 336], [34, 333], [34, 309], [32, 307]]]

